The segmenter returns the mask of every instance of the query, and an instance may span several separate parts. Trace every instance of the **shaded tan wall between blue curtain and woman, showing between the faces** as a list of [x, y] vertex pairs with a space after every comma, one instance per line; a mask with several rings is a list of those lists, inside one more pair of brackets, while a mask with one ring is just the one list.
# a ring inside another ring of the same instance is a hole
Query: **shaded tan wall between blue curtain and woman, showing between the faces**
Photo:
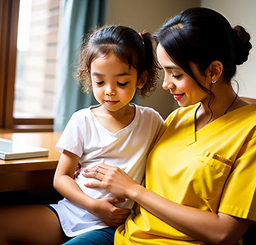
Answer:
[[[154, 33], [172, 15], [199, 5], [200, 0], [108, 0], [107, 22]], [[155, 108], [164, 118], [177, 108], [170, 92], [163, 90], [162, 80], [157, 90], [150, 97], [139, 99], [138, 104]]]

